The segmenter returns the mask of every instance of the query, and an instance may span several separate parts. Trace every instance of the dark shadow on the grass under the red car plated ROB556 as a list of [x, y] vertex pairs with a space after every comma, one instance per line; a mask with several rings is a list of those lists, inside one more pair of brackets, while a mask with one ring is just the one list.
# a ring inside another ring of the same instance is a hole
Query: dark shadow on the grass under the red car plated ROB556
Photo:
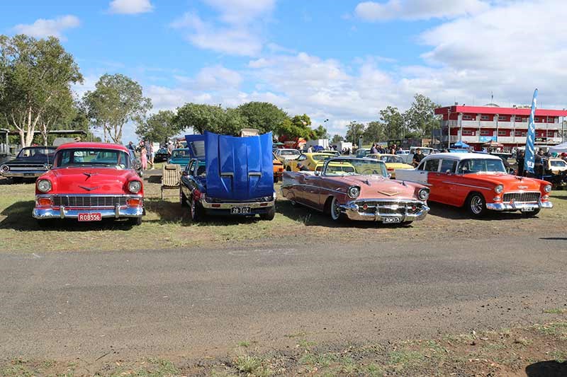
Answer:
[[103, 219], [96, 222], [80, 222], [74, 219], [54, 219], [43, 220], [43, 226], [32, 218], [31, 213], [35, 202], [27, 200], [25, 202], [16, 202], [10, 207], [6, 207], [0, 214], [6, 216], [6, 219], [0, 221], [1, 229], [13, 229], [15, 231], [100, 231], [108, 229], [129, 229], [132, 224], [124, 220]]

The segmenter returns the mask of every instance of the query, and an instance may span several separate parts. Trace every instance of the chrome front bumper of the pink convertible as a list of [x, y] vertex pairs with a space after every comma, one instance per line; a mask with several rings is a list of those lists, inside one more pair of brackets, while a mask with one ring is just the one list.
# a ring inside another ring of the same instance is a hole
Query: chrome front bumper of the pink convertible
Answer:
[[[393, 202], [392, 200], [388, 199], [362, 199], [362, 200], [355, 200], [352, 202], [348, 202], [347, 204], [342, 204], [339, 206], [342, 213], [347, 215], [350, 220], [363, 220], [363, 221], [384, 221], [384, 219], [388, 218], [396, 218], [399, 219], [400, 222], [404, 221], [416, 221], [416, 220], [423, 220], [427, 215], [427, 212], [430, 211], [430, 207], [427, 206], [424, 202], [418, 201], [404, 201], [398, 204], [388, 204], [388, 205], [378, 205], [378, 207], [382, 207], [381, 209], [389, 209], [391, 211], [398, 211], [396, 213], [386, 213], [381, 212], [380, 208], [377, 208], [374, 212], [364, 212], [361, 211], [361, 207], [364, 206], [365, 202]], [[417, 204], [421, 208], [419, 211], [412, 211], [411, 205]], [[371, 208], [371, 206], [369, 206]], [[374, 206], [376, 207], [376, 206]], [[403, 210], [402, 210], [403, 209]]]

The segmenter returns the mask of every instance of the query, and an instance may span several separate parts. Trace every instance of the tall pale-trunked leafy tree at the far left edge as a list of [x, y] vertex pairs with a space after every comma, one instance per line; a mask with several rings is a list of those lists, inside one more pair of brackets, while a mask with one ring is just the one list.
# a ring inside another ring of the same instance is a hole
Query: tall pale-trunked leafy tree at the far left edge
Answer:
[[82, 80], [57, 38], [0, 35], [0, 116], [16, 129], [22, 146], [32, 143], [40, 121], [48, 124], [54, 114], [69, 110], [64, 107], [71, 85]]

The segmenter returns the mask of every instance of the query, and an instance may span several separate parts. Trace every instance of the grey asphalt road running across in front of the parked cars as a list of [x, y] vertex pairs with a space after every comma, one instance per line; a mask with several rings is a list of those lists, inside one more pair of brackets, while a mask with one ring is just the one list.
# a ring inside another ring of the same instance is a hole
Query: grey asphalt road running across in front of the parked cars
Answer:
[[566, 267], [564, 235], [2, 253], [0, 355], [201, 357], [533, 323], [567, 305]]

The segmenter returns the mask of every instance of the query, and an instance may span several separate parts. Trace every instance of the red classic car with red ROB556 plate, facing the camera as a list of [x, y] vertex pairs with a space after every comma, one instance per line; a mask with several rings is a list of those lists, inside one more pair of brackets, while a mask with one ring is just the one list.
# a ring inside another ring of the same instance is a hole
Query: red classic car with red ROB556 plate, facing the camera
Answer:
[[35, 182], [33, 217], [100, 221], [144, 214], [142, 180], [128, 149], [116, 144], [71, 143], [55, 151], [53, 166]]

